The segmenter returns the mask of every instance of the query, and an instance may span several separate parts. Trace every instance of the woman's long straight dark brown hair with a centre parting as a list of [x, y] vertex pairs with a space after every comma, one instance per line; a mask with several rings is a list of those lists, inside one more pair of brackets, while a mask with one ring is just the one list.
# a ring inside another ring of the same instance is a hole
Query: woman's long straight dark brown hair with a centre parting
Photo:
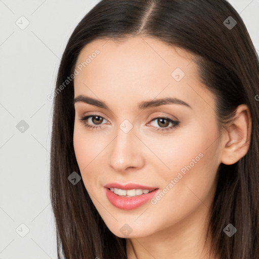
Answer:
[[[73, 149], [74, 73], [82, 48], [91, 41], [136, 35], [156, 37], [193, 53], [200, 80], [215, 94], [221, 125], [235, 108], [251, 113], [247, 154], [232, 165], [221, 164], [207, 237], [220, 259], [259, 258], [259, 94], [258, 56], [247, 29], [225, 0], [103, 0], [76, 26], [58, 71], [51, 140], [50, 189], [55, 216], [58, 258], [126, 258], [126, 239], [115, 236], [96, 210], [82, 181]], [[60, 85], [66, 86], [60, 88]], [[237, 229], [228, 237], [223, 229]]]

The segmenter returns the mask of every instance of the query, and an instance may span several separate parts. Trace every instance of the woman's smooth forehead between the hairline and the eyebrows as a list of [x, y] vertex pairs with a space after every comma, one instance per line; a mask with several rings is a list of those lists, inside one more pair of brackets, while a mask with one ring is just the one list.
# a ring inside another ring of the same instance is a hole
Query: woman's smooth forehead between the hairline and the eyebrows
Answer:
[[[98, 53], [98, 54], [96, 54]], [[200, 102], [201, 89], [194, 55], [153, 37], [123, 40], [97, 39], [86, 45], [76, 61], [77, 95], [107, 100], [119, 96], [131, 100], [172, 97]], [[180, 79], [180, 80], [179, 80]], [[195, 92], [197, 94], [195, 94]]]

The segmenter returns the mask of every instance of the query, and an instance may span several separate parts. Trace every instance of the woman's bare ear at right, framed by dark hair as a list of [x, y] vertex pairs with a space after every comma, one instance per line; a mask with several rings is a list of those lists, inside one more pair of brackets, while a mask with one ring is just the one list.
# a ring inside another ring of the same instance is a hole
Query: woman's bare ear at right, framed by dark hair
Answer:
[[249, 108], [241, 104], [236, 109], [236, 115], [227, 131], [223, 145], [225, 145], [221, 162], [234, 164], [240, 160], [248, 151], [251, 137], [251, 115]]

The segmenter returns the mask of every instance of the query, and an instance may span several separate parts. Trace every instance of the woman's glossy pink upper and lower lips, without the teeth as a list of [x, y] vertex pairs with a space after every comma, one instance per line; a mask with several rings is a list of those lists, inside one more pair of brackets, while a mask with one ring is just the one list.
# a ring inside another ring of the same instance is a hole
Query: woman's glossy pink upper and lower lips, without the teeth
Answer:
[[[108, 186], [108, 185], [107, 185]], [[121, 187], [121, 185], [114, 185], [114, 188]], [[116, 187], [117, 186], [117, 187]], [[106, 186], [105, 186], [106, 187]], [[110, 187], [109, 187], [110, 188]], [[156, 188], [151, 188], [148, 186], [140, 186], [140, 185], [125, 185], [123, 188], [118, 188], [118, 189], [123, 189], [123, 190], [131, 190], [131, 189], [146, 189], [146, 190], [152, 190]], [[123, 196], [118, 196], [117, 194], [113, 193], [108, 187], [105, 188], [105, 193], [107, 196], [107, 199], [110, 201], [110, 203], [120, 209], [134, 209], [138, 208], [141, 205], [145, 204], [147, 201], [152, 199], [160, 190], [156, 189], [152, 192], [149, 193], [143, 193], [141, 195], [136, 195], [133, 197], [123, 197]]]

